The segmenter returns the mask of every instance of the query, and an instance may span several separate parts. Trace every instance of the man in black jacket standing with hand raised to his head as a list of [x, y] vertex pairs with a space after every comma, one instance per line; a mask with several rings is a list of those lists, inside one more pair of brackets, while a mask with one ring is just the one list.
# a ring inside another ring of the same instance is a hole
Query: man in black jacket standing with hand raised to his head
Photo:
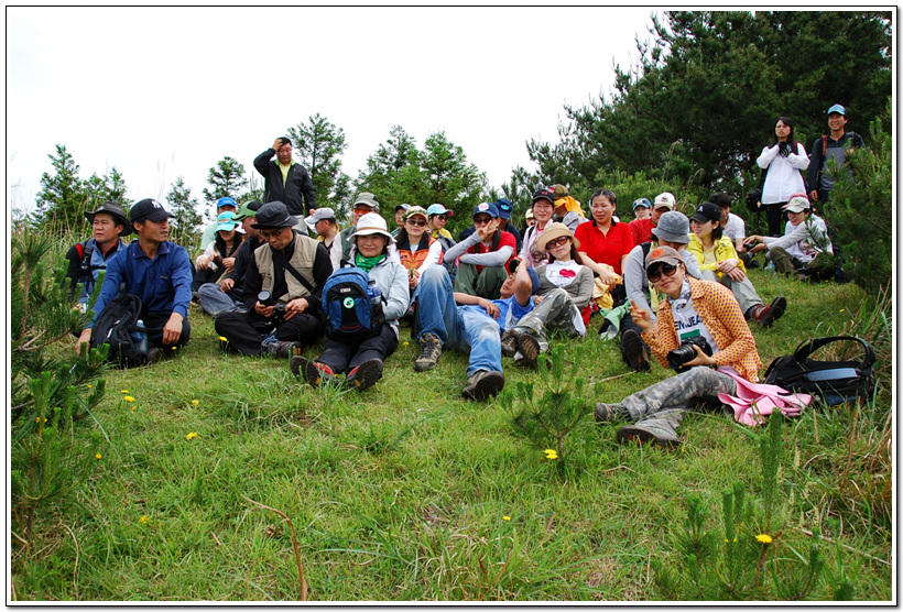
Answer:
[[317, 207], [314, 183], [307, 168], [292, 159], [292, 141], [287, 136], [278, 138], [273, 146], [258, 155], [254, 168], [263, 176], [264, 199], [268, 203], [284, 203], [298, 221], [305, 217], [305, 210]]

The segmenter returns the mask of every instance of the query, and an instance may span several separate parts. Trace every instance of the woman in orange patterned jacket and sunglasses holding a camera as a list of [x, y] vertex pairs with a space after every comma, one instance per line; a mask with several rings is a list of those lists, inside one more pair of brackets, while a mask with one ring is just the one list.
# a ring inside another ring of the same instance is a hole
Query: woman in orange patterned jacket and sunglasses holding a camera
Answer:
[[[708, 400], [720, 404], [719, 393], [736, 394], [738, 383], [735, 378], [752, 383], [758, 381], [762, 361], [755, 339], [730, 289], [719, 283], [687, 276], [681, 255], [671, 247], [656, 247], [650, 251], [645, 267], [649, 282], [666, 298], [659, 304], [659, 318], [654, 324], [649, 310], [631, 303], [633, 323], [643, 330], [643, 340], [663, 368], [675, 364], [677, 356], [672, 357], [675, 349], [688, 352], [686, 357], [692, 359], [683, 361], [678, 369], [682, 373], [648, 386], [618, 404], [596, 404], [596, 420], [633, 422], [618, 430], [621, 442], [635, 440], [675, 446], [681, 442], [677, 426], [693, 401]], [[698, 338], [706, 340], [708, 352], [696, 343]], [[684, 371], [687, 368], [689, 370]]]

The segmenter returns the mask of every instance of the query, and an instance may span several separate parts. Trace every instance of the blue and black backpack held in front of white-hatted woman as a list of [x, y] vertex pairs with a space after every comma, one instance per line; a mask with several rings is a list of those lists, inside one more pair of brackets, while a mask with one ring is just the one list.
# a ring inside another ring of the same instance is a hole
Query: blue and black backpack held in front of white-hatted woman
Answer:
[[336, 340], [360, 341], [382, 331], [382, 297], [376, 282], [360, 267], [340, 267], [323, 285], [326, 335]]

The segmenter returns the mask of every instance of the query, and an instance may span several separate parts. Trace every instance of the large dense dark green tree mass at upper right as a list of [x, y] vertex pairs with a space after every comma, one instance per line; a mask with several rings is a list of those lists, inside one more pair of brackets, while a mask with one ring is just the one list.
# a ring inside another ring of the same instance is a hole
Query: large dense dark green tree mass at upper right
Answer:
[[616, 67], [610, 98], [565, 107], [561, 143], [527, 143], [544, 182], [574, 190], [644, 171], [740, 190], [779, 116], [809, 144], [833, 103], [864, 125], [891, 95], [891, 13], [672, 11], [650, 33], [639, 64]]

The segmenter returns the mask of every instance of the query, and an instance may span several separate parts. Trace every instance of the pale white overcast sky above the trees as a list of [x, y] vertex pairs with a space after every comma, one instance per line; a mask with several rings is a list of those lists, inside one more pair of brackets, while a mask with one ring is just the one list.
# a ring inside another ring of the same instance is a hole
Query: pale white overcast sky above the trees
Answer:
[[[7, 8], [7, 201], [31, 207], [47, 155], [116, 166], [128, 196], [253, 159], [319, 112], [342, 128], [352, 178], [402, 125], [444, 130], [489, 184], [534, 170], [563, 105], [610, 95], [638, 59], [649, 8]], [[392, 204], [392, 203], [387, 203]]]

